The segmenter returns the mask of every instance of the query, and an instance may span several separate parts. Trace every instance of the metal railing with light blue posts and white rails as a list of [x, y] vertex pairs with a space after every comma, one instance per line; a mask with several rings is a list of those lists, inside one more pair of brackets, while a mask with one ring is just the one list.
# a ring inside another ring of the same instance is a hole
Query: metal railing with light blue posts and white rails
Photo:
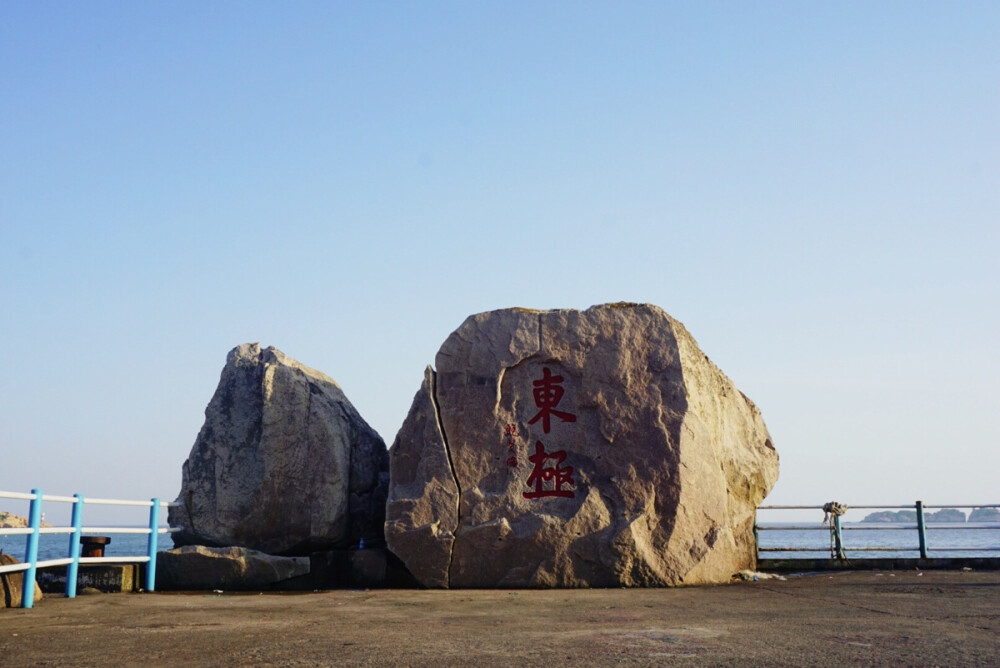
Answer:
[[[22, 492], [0, 491], [2, 499], [20, 499], [30, 501], [31, 506], [28, 511], [28, 526], [23, 528], [0, 528], [0, 536], [27, 536], [27, 547], [25, 549], [24, 563], [0, 566], [0, 573], [17, 573], [24, 571], [24, 582], [21, 591], [21, 607], [30, 608], [35, 602], [35, 574], [39, 568], [51, 566], [66, 566], [66, 596], [73, 598], [76, 596], [77, 575], [80, 564], [110, 564], [110, 563], [145, 563], [146, 566], [146, 591], [154, 591], [156, 586], [156, 552], [158, 538], [160, 534], [173, 533], [179, 529], [168, 529], [160, 526], [160, 509], [169, 508], [176, 504], [159, 499], [149, 501], [122, 501], [119, 499], [85, 499], [79, 494], [73, 496], [55, 496], [43, 494], [40, 489], [31, 490], [30, 494]], [[57, 503], [73, 504], [72, 519], [70, 526], [42, 526], [42, 502], [50, 501]], [[145, 528], [133, 527], [85, 527], [83, 526], [83, 506], [106, 505], [106, 506], [145, 506], [149, 508], [149, 524]], [[125, 557], [82, 557], [80, 556], [80, 538], [83, 533], [88, 534], [147, 534], [146, 554]], [[38, 543], [41, 534], [70, 534], [67, 556], [60, 559], [47, 559], [38, 561]]]

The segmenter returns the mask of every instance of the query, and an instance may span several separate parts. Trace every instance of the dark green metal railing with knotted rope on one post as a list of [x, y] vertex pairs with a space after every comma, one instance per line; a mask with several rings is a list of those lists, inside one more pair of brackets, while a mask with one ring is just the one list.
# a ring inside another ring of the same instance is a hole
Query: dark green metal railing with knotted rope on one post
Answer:
[[[913, 510], [915, 511], [915, 524], [914, 523], [894, 523], [894, 522], [879, 522], [878, 524], [861, 524], [853, 526], [844, 526], [840, 521], [841, 515], [846, 512], [848, 508], [857, 510]], [[830, 557], [840, 560], [847, 559], [847, 550], [852, 552], [919, 552], [921, 559], [929, 558], [928, 553], [930, 548], [927, 541], [927, 518], [924, 513], [928, 509], [959, 509], [959, 508], [1000, 508], [1000, 504], [949, 504], [949, 505], [934, 505], [928, 506], [924, 505], [922, 501], [917, 501], [913, 505], [903, 505], [903, 506], [885, 506], [885, 505], [858, 505], [858, 506], [847, 506], [837, 503], [828, 503], [822, 506], [760, 506], [757, 508], [758, 513], [761, 510], [817, 510], [820, 512], [827, 513], [826, 518], [822, 524], [789, 524], [782, 526], [773, 525], [760, 525], [754, 520], [754, 541], [757, 545], [757, 557], [761, 557], [763, 552], [821, 552], [821, 548], [817, 547], [761, 547], [759, 532], [761, 531], [827, 531], [830, 533]], [[833, 511], [833, 512], [831, 512]], [[957, 524], [957, 523], [945, 523], [942, 522], [935, 529], [948, 529], [948, 530], [989, 530], [989, 529], [1000, 529], [1000, 524], [997, 523], [974, 523], [973, 526]], [[865, 545], [851, 545], [847, 546], [844, 541], [845, 531], [916, 531], [917, 545], [913, 547], [886, 547], [886, 546], [865, 546]], [[1000, 543], [1000, 541], [998, 541]], [[935, 552], [1000, 552], [1000, 545], [994, 547], [955, 547], [948, 545], [935, 545], [933, 547]]]

